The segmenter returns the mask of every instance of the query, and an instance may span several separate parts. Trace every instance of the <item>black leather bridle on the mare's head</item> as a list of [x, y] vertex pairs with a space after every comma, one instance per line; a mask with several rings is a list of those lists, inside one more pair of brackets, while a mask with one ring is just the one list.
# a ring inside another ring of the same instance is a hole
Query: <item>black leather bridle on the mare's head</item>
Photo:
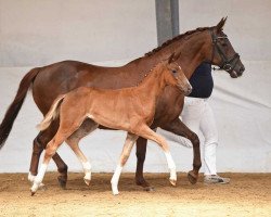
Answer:
[[218, 40], [220, 39], [228, 39], [228, 36], [216, 36], [214, 34], [214, 30], [210, 29], [210, 35], [211, 35], [211, 41], [212, 41], [212, 54], [211, 54], [211, 63], [215, 58], [215, 52], [217, 51], [219, 56], [221, 58], [222, 62], [219, 65], [219, 68], [212, 68], [214, 71], [225, 71], [228, 73], [232, 73], [234, 69], [235, 65], [240, 61], [240, 54], [235, 53], [233, 56], [229, 58], [224, 54], [223, 50], [218, 46]]

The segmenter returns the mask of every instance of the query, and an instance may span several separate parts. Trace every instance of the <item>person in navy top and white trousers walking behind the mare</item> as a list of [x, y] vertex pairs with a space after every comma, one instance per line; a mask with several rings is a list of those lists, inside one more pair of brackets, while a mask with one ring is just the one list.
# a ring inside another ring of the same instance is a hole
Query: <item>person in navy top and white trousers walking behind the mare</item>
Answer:
[[[212, 110], [208, 103], [208, 99], [214, 88], [211, 65], [209, 63], [202, 63], [190, 78], [190, 84], [193, 90], [189, 97], [184, 98], [184, 107], [181, 118], [192, 131], [198, 135], [201, 130], [204, 136], [204, 182], [229, 183], [230, 179], [218, 176], [216, 168], [218, 130]], [[165, 131], [160, 128], [157, 132], [164, 135], [171, 141], [192, 148], [191, 142], [183, 137]]]

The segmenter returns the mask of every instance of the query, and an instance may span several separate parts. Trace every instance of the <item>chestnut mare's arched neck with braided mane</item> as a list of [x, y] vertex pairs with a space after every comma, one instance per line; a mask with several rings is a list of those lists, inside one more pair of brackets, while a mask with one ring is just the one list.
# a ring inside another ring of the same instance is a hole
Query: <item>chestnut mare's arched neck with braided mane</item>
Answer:
[[127, 71], [124, 72], [129, 73], [129, 76], [132, 76], [133, 80], [140, 81], [151, 68], [163, 60], [168, 59], [173, 52], [181, 52], [181, 56], [177, 62], [181, 65], [185, 76], [190, 78], [196, 67], [211, 56], [212, 47], [209, 29], [184, 35], [180, 39], [169, 42], [164, 48], [162, 47], [157, 51], [152, 52], [150, 55], [128, 63], [125, 66]]

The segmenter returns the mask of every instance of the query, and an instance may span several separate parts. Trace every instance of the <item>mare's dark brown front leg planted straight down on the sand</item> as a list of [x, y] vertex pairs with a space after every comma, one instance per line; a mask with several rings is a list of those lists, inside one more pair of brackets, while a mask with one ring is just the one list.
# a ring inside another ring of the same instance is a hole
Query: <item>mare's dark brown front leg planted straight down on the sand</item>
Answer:
[[151, 187], [143, 177], [143, 166], [146, 156], [146, 143], [147, 140], [140, 137], [137, 140], [137, 171], [136, 171], [136, 183], [141, 186], [145, 191], [152, 191], [154, 188]]

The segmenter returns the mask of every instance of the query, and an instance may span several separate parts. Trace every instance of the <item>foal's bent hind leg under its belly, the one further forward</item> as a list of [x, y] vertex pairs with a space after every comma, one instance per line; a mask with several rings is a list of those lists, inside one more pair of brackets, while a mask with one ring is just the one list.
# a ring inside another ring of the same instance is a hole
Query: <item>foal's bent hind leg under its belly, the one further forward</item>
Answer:
[[90, 184], [91, 180], [91, 164], [89, 159], [85, 156], [80, 148], [78, 146], [79, 141], [89, 135], [90, 132], [94, 131], [98, 128], [98, 124], [93, 122], [92, 119], [86, 119], [80, 128], [76, 130], [68, 139], [66, 140], [66, 143], [70, 146], [70, 149], [74, 151], [78, 159], [81, 162], [85, 177], [83, 180], [86, 184]]

